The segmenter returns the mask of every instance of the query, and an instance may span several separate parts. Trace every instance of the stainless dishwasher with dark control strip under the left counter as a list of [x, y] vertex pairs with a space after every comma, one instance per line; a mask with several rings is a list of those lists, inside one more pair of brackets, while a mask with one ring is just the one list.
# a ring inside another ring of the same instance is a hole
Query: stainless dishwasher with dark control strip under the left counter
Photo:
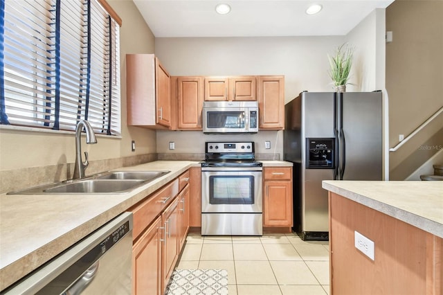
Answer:
[[131, 294], [132, 213], [125, 212], [1, 294]]

